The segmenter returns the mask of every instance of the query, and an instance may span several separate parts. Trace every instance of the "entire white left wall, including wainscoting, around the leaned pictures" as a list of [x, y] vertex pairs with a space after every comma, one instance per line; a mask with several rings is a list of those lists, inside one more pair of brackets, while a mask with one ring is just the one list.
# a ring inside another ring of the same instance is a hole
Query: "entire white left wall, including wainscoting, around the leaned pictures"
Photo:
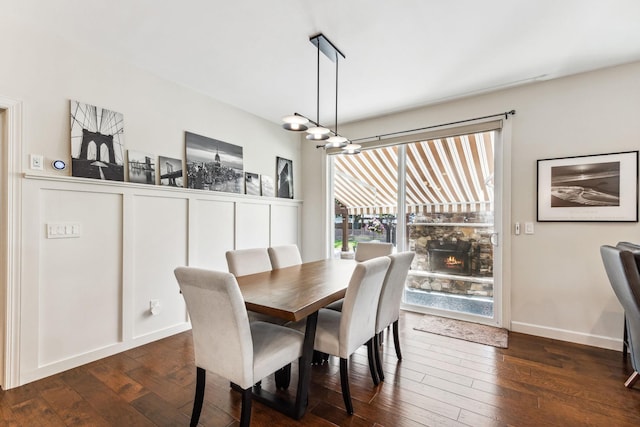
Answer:
[[[291, 159], [301, 199], [298, 135], [28, 24], [0, 16], [0, 28], [11, 39], [0, 95], [21, 102], [22, 169], [31, 173], [30, 153], [46, 166], [20, 180], [20, 356], [9, 386], [188, 328], [178, 265], [226, 269], [229, 249], [301, 245], [299, 200], [100, 182], [50, 167], [71, 164], [71, 99], [123, 113], [127, 149], [184, 158], [190, 131], [243, 146], [245, 171], [275, 178], [276, 156]], [[78, 223], [81, 236], [47, 239], [51, 222]], [[157, 316], [150, 299], [161, 301]]]

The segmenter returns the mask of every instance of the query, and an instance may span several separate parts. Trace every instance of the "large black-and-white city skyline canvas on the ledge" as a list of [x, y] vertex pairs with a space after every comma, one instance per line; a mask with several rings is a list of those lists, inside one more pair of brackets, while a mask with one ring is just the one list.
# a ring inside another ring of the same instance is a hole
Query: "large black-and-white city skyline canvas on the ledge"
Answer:
[[242, 147], [191, 132], [185, 146], [189, 188], [244, 192]]

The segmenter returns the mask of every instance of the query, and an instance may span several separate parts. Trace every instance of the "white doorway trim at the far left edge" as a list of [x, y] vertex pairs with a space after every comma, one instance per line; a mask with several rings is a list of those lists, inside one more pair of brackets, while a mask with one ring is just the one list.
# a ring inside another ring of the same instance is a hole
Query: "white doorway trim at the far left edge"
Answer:
[[22, 102], [0, 96], [3, 115], [0, 185], [2, 186], [2, 227], [0, 271], [4, 318], [2, 331], [2, 364], [0, 385], [7, 390], [20, 385], [20, 260], [21, 260], [21, 194]]

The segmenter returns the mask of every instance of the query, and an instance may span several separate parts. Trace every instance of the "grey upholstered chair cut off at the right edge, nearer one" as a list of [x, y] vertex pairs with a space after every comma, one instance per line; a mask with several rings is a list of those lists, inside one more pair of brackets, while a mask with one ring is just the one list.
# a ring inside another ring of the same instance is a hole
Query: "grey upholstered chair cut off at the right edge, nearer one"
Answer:
[[600, 247], [600, 255], [613, 292], [626, 314], [633, 373], [624, 385], [633, 387], [640, 379], [640, 272], [633, 254], [629, 251], [603, 245]]

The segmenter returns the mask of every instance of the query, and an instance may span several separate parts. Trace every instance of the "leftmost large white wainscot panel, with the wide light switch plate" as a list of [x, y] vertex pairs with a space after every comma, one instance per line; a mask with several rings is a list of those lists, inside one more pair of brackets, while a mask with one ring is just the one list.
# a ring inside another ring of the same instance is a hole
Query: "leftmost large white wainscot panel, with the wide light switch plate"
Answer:
[[[42, 366], [121, 339], [122, 196], [63, 190], [38, 194]], [[54, 222], [80, 224], [80, 237], [47, 239], [46, 224]]]

